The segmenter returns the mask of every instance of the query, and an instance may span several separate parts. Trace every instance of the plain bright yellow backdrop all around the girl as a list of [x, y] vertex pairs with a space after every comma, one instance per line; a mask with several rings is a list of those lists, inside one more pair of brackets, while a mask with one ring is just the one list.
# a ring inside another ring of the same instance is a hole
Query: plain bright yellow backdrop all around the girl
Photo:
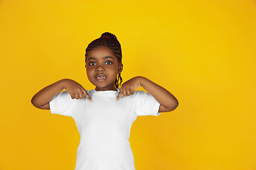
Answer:
[[72, 118], [32, 106], [48, 84], [85, 74], [85, 48], [109, 31], [124, 81], [169, 89], [176, 111], [139, 117], [137, 170], [256, 169], [256, 1], [0, 1], [0, 169], [75, 169]]

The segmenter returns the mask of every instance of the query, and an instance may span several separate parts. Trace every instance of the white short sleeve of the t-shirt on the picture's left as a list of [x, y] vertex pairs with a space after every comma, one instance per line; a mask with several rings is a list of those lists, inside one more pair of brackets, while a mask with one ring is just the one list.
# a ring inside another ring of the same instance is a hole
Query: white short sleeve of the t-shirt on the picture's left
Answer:
[[53, 97], [50, 101], [50, 112], [59, 115], [72, 116], [75, 108], [76, 99], [72, 99], [68, 91], [63, 91]]

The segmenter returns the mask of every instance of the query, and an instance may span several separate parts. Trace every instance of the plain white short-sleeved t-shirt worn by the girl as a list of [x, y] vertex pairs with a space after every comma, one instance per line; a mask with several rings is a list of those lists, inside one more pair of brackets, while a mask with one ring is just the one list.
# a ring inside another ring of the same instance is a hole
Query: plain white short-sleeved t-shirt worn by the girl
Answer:
[[67, 91], [50, 101], [51, 113], [71, 116], [80, 133], [80, 145], [75, 170], [134, 170], [134, 158], [129, 145], [132, 123], [138, 115], [159, 115], [160, 104], [144, 91], [121, 96], [117, 91], [87, 91], [72, 99]]

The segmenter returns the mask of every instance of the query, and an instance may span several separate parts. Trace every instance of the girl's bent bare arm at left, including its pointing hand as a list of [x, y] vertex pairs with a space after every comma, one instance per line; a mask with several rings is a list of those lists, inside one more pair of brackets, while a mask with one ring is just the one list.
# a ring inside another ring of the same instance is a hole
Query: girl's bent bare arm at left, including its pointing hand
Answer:
[[84, 94], [90, 101], [92, 101], [89, 94], [87, 94], [87, 91], [85, 91], [85, 89], [80, 84], [78, 84], [78, 82], [71, 79], [62, 79], [55, 82], [54, 84], [46, 86], [45, 88], [41, 89], [41, 91], [38, 91], [38, 93], [35, 94], [35, 96], [33, 96], [33, 98], [31, 99], [31, 103], [36, 108], [49, 110], [49, 102], [63, 89], [68, 91], [71, 98], [81, 99], [83, 98]]

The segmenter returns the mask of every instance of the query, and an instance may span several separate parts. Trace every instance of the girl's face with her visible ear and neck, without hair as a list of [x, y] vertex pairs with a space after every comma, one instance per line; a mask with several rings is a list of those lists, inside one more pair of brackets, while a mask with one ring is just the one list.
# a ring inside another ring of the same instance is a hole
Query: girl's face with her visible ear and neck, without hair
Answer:
[[109, 47], [100, 46], [90, 50], [85, 62], [87, 77], [96, 86], [96, 91], [117, 91], [114, 83], [123, 65]]

